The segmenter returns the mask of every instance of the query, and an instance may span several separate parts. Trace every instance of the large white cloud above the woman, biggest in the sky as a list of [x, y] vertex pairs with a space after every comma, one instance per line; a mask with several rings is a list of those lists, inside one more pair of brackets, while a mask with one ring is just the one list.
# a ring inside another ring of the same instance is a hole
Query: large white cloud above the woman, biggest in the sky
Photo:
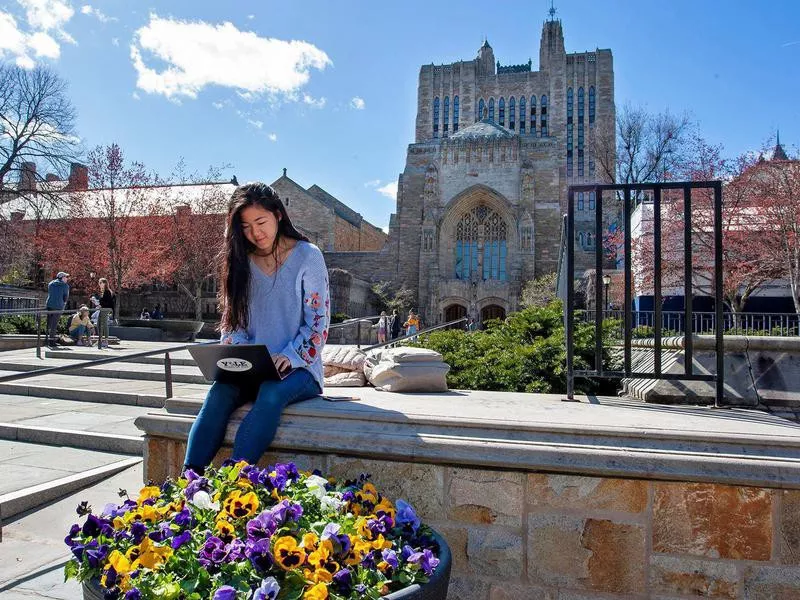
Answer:
[[[214, 25], [150, 15], [131, 44], [139, 89], [168, 98], [196, 98], [206, 86], [234, 88], [245, 99], [258, 94], [296, 100], [311, 70], [332, 64], [308, 42], [259, 37], [232, 23]], [[162, 70], [151, 61], [165, 62]]]

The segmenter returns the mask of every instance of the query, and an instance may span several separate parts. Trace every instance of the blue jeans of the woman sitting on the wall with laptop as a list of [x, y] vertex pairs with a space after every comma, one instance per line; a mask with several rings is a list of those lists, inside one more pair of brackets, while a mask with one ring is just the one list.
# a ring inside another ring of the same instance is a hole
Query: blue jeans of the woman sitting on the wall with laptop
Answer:
[[253, 407], [236, 432], [232, 457], [258, 462], [275, 438], [283, 409], [319, 393], [319, 384], [307, 369], [296, 369], [282, 381], [265, 381], [258, 387], [214, 383], [189, 432], [184, 465], [198, 471], [208, 466], [222, 446], [231, 413], [251, 401]]

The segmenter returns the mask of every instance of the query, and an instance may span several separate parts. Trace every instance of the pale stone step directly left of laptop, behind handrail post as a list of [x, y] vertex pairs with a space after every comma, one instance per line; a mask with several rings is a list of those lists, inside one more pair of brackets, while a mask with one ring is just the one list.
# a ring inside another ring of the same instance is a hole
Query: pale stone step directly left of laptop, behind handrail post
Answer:
[[[102, 356], [108, 358], [108, 355]], [[98, 357], [99, 358], [99, 357]], [[6, 371], [30, 372], [47, 367], [76, 366], [75, 369], [68, 371], [69, 375], [82, 375], [85, 377], [105, 377], [108, 379], [141, 379], [145, 381], [165, 381], [163, 362], [157, 363], [130, 363], [119, 362], [114, 364], [100, 365], [96, 367], [80, 367], [85, 360], [74, 358], [36, 358], [27, 359], [7, 359], [2, 362], [2, 368]], [[207, 383], [200, 369], [195, 366], [172, 366], [172, 381], [175, 383]]]

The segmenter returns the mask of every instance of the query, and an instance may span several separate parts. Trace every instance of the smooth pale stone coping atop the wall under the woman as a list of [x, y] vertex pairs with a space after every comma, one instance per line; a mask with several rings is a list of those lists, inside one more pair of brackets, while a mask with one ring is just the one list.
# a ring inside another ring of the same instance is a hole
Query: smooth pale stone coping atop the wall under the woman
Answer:
[[[800, 488], [800, 425], [769, 414], [548, 394], [392, 394], [340, 388], [284, 412], [273, 449], [405, 462]], [[198, 399], [139, 417], [150, 438], [185, 440]], [[231, 445], [244, 407], [234, 414]]]

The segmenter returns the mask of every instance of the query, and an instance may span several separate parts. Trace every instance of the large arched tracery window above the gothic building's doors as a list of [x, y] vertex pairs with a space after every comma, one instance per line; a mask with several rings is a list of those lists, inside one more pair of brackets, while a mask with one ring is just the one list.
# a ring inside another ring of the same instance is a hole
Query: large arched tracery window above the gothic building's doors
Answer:
[[[477, 206], [456, 224], [457, 279], [480, 277], [506, 281], [508, 227], [505, 220], [487, 206]], [[479, 256], [478, 240], [483, 239], [483, 256]], [[483, 268], [479, 269], [479, 257]]]

